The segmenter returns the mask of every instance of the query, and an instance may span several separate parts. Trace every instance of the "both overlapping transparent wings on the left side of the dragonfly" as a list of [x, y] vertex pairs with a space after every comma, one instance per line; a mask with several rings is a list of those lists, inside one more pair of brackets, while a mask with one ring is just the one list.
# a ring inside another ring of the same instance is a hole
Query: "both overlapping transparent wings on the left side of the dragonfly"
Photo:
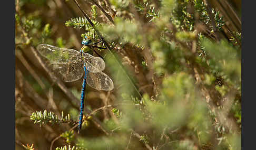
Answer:
[[47, 44], [38, 45], [37, 50], [50, 61], [50, 68], [63, 81], [72, 82], [83, 76], [83, 61], [79, 51]]

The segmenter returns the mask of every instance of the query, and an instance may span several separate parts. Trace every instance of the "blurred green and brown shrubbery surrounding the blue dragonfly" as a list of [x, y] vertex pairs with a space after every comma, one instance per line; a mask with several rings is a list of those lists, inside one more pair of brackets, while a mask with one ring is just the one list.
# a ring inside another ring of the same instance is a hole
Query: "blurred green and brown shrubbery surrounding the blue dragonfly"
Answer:
[[[15, 9], [16, 149], [241, 149], [241, 1], [16, 0]], [[85, 36], [107, 43], [94, 50], [114, 89], [86, 85], [77, 134], [83, 78], [62, 81], [36, 46], [79, 51]]]

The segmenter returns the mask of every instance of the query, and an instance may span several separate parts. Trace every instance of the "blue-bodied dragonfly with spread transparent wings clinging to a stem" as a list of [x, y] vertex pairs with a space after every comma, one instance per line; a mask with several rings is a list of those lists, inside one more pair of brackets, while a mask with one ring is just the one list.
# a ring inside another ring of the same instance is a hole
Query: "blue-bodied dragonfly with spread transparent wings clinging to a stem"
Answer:
[[[82, 48], [80, 51], [60, 48], [48, 44], [40, 44], [37, 51], [49, 63], [53, 72], [65, 82], [73, 82], [80, 79], [83, 74], [83, 83], [80, 99], [80, 114], [78, 117], [78, 134], [83, 122], [84, 98], [86, 83], [96, 90], [111, 91], [114, 88], [112, 79], [102, 71], [105, 69], [105, 62], [101, 57], [94, 57], [87, 53], [93, 48], [103, 47], [95, 46], [101, 41], [92, 44], [90, 37], [85, 36], [82, 40]], [[97, 53], [97, 55], [99, 55]]]

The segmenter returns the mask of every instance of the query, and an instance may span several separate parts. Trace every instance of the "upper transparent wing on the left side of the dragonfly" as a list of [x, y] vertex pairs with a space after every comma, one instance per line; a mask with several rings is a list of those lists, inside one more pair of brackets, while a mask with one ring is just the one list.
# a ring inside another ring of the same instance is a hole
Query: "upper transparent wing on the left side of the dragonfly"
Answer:
[[46, 59], [50, 60], [50, 63], [81, 63], [81, 52], [60, 48], [48, 44], [40, 44], [37, 46], [37, 51]]

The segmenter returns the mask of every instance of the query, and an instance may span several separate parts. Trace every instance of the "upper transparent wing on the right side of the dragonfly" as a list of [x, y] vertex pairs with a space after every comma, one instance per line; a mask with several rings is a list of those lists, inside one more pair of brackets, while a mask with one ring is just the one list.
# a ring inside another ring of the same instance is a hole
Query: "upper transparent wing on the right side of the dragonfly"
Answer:
[[105, 69], [105, 62], [100, 57], [94, 57], [88, 53], [83, 53], [84, 65], [90, 72], [99, 72]]

